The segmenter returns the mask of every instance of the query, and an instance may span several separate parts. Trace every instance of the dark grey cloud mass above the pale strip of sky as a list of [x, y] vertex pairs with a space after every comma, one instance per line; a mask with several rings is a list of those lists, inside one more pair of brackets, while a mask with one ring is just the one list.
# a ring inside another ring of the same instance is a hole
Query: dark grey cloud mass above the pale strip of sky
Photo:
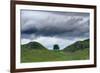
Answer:
[[88, 38], [89, 22], [89, 13], [21, 10], [21, 38]]

